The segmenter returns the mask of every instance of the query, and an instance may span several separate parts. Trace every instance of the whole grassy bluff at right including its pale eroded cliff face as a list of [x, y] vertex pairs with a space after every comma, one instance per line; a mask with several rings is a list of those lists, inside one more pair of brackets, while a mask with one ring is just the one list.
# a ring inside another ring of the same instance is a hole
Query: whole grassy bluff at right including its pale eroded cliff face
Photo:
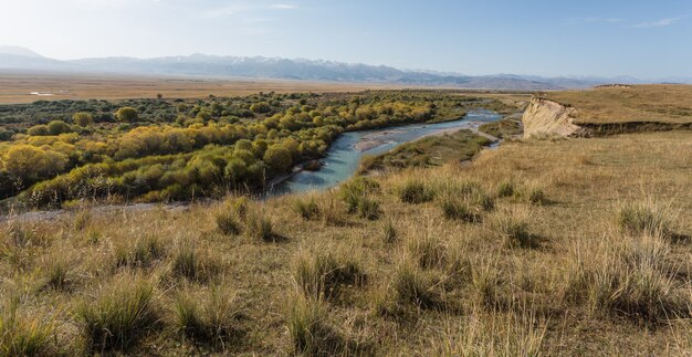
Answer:
[[604, 85], [542, 93], [524, 116], [524, 136], [602, 136], [692, 129], [690, 85]]

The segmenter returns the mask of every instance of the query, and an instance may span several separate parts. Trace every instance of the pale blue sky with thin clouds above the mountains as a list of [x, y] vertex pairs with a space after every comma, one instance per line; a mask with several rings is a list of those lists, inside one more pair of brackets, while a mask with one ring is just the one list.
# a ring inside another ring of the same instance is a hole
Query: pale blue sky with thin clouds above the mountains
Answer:
[[692, 77], [691, 0], [0, 0], [0, 44], [463, 74]]

